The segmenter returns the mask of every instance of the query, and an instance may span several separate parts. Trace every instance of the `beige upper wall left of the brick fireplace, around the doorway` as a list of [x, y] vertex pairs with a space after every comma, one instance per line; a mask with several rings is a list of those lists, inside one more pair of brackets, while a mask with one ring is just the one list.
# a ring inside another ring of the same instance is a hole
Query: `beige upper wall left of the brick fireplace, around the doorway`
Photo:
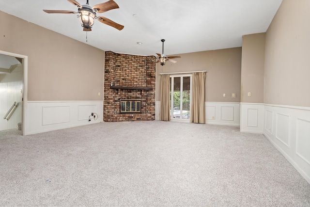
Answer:
[[103, 100], [103, 50], [1, 11], [0, 19], [0, 50], [28, 56], [29, 101]]

